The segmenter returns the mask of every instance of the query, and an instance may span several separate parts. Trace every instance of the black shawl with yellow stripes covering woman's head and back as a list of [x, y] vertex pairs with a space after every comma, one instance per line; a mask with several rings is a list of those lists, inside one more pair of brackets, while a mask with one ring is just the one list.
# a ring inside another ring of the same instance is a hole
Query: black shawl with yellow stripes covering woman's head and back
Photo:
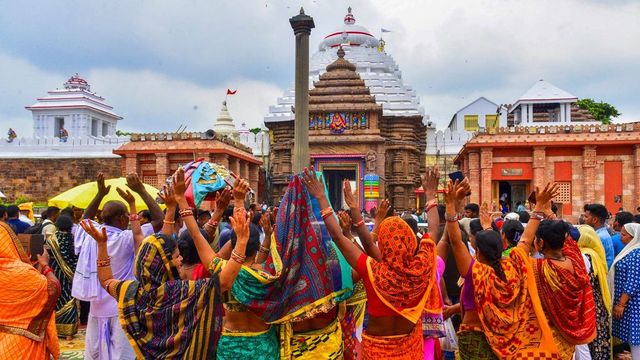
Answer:
[[215, 357], [223, 317], [219, 270], [210, 269], [209, 279], [180, 280], [164, 239], [144, 240], [137, 280], [117, 286], [120, 323], [139, 358]]

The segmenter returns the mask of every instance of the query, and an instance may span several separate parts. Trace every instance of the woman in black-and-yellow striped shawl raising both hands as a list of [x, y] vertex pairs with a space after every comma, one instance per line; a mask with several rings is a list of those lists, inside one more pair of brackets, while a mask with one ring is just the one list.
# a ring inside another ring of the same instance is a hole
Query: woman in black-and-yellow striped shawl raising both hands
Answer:
[[[184, 194], [184, 181], [178, 185], [176, 194], [181, 192]], [[180, 216], [189, 229], [197, 229], [193, 210], [185, 207]], [[234, 214], [232, 224], [238, 238], [235, 250], [244, 251], [249, 237], [244, 209]], [[208, 269], [211, 278], [180, 280], [176, 242], [173, 236], [157, 234], [145, 238], [140, 247], [135, 280], [117, 280], [113, 278], [107, 253], [106, 229], [103, 227], [99, 231], [89, 221], [83, 222], [82, 226], [98, 243], [100, 284], [109, 295], [118, 299], [120, 323], [137, 356], [145, 359], [212, 359], [222, 325], [220, 293], [229, 289], [240, 264], [232, 261], [223, 266], [219, 259], [211, 259]]]

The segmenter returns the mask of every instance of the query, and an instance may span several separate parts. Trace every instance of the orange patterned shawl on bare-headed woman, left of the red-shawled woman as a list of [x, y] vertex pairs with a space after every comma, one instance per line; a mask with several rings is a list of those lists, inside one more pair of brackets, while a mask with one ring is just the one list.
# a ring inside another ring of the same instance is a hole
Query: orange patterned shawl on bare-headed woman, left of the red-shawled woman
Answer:
[[507, 281], [479, 261], [472, 268], [478, 317], [493, 352], [500, 359], [559, 359], [529, 255], [515, 247], [500, 264]]

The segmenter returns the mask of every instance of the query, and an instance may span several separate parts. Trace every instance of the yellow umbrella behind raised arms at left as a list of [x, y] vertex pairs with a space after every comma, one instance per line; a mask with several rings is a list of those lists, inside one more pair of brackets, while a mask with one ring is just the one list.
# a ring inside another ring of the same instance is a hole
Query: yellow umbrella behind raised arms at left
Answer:
[[[156, 199], [158, 197], [158, 189], [154, 188], [151, 185], [143, 184], [147, 192], [151, 195], [152, 198]], [[136, 199], [136, 210], [146, 210], [148, 209], [147, 205], [142, 201], [142, 198], [138, 193], [131, 191], [127, 186], [127, 179], [120, 177], [115, 179], [107, 179], [105, 180], [105, 186], [111, 186], [109, 189], [109, 194], [102, 199], [100, 203], [100, 209], [104, 206], [107, 201], [111, 200], [119, 200], [124, 202], [124, 200], [118, 195], [116, 188], [121, 188], [122, 190], [129, 190], [133, 197]], [[74, 188], [71, 188], [62, 194], [59, 194], [51, 199], [49, 199], [49, 206], [57, 206], [60, 209], [66, 208], [68, 206], [75, 206], [81, 209], [86, 209], [91, 203], [91, 200], [98, 193], [98, 183], [96, 181], [88, 182], [86, 184], [78, 185]], [[128, 206], [127, 206], [128, 207]]]

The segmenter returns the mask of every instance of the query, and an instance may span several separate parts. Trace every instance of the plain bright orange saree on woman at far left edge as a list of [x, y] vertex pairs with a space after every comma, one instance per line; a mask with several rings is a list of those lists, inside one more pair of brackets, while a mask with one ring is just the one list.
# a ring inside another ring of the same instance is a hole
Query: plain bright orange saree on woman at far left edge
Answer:
[[0, 221], [1, 357], [60, 357], [55, 324], [58, 286], [31, 266], [16, 234]]

